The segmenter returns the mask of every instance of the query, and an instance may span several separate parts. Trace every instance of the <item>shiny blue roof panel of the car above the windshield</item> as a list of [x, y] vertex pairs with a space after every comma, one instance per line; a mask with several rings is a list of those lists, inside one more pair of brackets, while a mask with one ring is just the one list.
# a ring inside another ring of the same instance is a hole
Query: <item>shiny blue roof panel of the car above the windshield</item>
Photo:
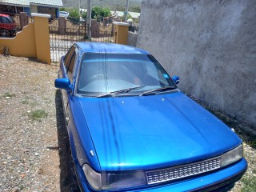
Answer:
[[125, 46], [114, 43], [103, 42], [76, 42], [75, 43], [85, 53], [107, 53], [107, 54], [150, 54], [133, 46]]

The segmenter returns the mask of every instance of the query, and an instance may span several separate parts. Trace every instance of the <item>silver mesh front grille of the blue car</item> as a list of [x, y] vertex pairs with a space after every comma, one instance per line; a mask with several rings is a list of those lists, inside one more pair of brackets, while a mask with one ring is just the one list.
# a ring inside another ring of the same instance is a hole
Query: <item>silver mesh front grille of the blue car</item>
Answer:
[[178, 178], [186, 178], [195, 174], [202, 174], [220, 167], [221, 158], [210, 158], [202, 162], [194, 162], [184, 166], [175, 166], [163, 170], [151, 170], [146, 172], [147, 183], [155, 184], [168, 182]]

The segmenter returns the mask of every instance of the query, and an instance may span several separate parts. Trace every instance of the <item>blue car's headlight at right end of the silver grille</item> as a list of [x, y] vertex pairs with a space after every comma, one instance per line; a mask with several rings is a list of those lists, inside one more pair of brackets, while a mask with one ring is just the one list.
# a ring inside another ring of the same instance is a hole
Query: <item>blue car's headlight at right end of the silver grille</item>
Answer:
[[237, 162], [243, 157], [243, 146], [240, 145], [233, 150], [226, 152], [226, 154], [222, 154], [221, 157], [221, 167], [232, 164], [233, 162]]

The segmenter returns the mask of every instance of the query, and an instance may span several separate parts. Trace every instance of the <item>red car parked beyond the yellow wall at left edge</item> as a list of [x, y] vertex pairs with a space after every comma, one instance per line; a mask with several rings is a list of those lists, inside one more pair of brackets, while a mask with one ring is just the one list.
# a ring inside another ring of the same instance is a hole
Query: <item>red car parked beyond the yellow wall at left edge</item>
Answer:
[[16, 23], [9, 14], [0, 14], [0, 37], [9, 38], [16, 35]]

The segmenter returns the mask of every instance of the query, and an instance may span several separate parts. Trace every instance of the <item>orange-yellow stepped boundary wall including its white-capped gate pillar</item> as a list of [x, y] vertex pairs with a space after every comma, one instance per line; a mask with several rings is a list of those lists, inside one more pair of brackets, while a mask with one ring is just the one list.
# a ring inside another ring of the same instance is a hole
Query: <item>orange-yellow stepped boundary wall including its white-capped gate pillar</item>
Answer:
[[9, 54], [37, 58], [50, 64], [49, 14], [32, 14], [34, 23], [29, 23], [14, 38], [0, 38], [0, 49], [8, 47]]

